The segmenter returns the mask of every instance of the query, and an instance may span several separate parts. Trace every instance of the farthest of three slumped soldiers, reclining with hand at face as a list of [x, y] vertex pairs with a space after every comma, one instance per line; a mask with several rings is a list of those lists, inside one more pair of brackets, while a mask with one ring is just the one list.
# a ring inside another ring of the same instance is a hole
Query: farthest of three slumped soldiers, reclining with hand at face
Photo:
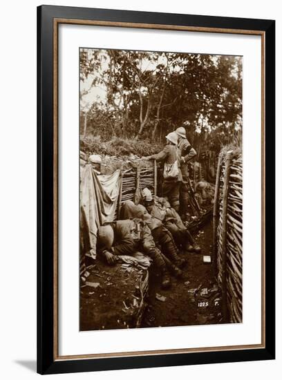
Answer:
[[162, 221], [164, 226], [171, 232], [178, 246], [182, 246], [186, 251], [200, 252], [200, 247], [195, 244], [193, 236], [183, 225], [179, 214], [169, 205], [166, 198], [152, 196], [151, 190], [147, 187], [143, 190], [143, 196], [144, 206], [147, 211], [151, 216]]

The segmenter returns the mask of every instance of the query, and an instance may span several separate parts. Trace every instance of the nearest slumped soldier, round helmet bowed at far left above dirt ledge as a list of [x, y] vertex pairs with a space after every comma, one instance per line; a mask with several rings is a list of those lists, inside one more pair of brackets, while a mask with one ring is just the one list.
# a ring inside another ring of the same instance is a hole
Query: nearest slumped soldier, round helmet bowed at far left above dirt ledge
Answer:
[[170, 287], [167, 265], [155, 245], [149, 227], [142, 220], [117, 220], [101, 226], [98, 229], [97, 248], [109, 265], [116, 263], [115, 255], [131, 255], [135, 251], [144, 251], [160, 269], [162, 287]]

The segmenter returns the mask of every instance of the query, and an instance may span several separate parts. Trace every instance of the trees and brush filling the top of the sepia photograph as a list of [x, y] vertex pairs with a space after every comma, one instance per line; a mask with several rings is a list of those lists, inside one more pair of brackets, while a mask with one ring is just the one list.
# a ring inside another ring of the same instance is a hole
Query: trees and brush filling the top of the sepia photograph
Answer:
[[218, 149], [240, 140], [241, 73], [241, 57], [81, 49], [80, 133], [163, 143], [184, 125]]

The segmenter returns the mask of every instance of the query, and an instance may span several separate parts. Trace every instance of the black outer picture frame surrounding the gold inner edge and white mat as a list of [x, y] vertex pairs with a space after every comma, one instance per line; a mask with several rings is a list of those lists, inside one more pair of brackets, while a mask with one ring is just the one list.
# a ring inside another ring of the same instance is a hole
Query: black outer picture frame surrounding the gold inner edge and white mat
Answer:
[[[54, 355], [55, 261], [54, 199], [54, 19], [116, 21], [152, 25], [260, 30], [265, 36], [265, 345], [264, 348], [214, 350], [98, 359], [60, 359]], [[149, 368], [171, 365], [256, 361], [275, 358], [275, 21], [133, 12], [93, 8], [37, 8], [37, 371], [40, 374]]]

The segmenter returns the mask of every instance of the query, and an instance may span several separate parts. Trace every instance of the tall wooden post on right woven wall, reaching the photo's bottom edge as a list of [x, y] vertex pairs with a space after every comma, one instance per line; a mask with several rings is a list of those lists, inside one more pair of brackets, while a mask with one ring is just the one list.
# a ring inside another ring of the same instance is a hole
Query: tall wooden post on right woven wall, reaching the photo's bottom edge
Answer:
[[223, 235], [222, 235], [222, 294], [223, 294], [223, 322], [227, 322], [227, 197], [229, 190], [229, 174], [230, 174], [230, 164], [232, 161], [232, 151], [228, 151], [226, 154], [225, 161], [225, 174], [223, 181]]

